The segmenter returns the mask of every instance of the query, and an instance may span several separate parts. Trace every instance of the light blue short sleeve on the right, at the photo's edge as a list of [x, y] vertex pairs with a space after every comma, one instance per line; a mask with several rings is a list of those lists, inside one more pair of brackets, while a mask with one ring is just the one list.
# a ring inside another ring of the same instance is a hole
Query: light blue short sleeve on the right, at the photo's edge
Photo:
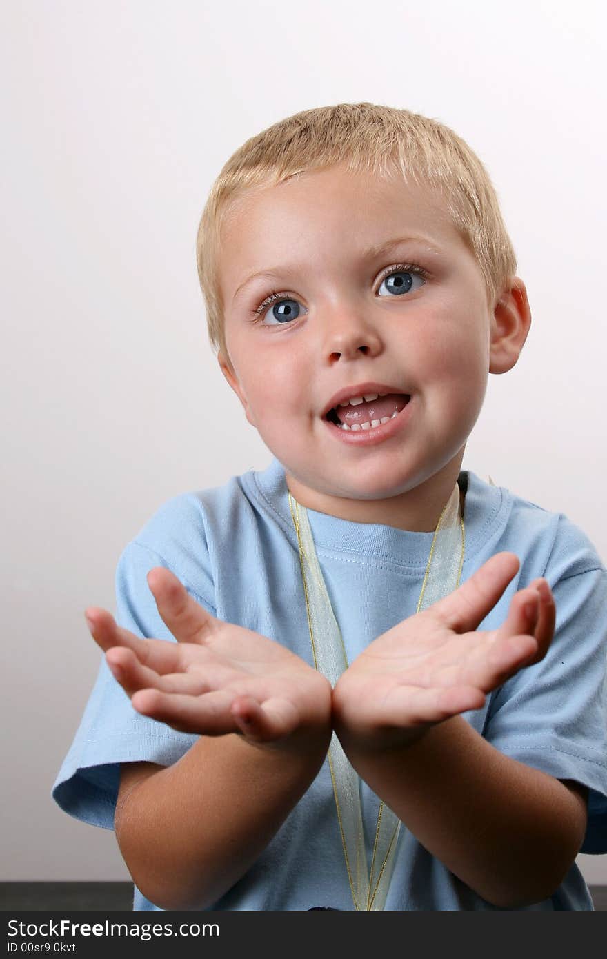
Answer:
[[549, 650], [497, 690], [483, 736], [515, 760], [588, 786], [580, 852], [602, 854], [607, 853], [607, 571], [594, 550], [583, 542], [580, 548], [579, 538], [572, 542], [575, 527], [569, 526], [544, 573], [556, 605]]

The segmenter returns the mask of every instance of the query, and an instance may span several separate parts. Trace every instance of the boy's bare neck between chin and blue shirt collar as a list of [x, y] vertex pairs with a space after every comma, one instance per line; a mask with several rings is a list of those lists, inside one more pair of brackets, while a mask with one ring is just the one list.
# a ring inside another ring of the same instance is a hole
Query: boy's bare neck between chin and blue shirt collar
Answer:
[[[383, 500], [353, 500], [319, 492], [285, 472], [293, 499], [318, 513], [336, 516], [354, 523], [376, 523], [407, 529], [410, 532], [433, 532], [440, 514], [453, 492], [459, 476], [463, 449], [438, 473], [404, 493]], [[464, 494], [460, 493], [463, 515]]]

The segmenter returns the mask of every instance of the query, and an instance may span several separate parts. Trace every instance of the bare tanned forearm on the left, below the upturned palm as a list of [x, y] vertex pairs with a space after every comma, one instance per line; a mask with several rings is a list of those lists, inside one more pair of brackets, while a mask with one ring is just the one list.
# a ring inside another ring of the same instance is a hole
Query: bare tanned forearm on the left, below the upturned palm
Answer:
[[205, 909], [268, 846], [322, 765], [330, 728], [297, 750], [200, 737], [128, 794], [116, 837], [141, 892], [164, 909]]

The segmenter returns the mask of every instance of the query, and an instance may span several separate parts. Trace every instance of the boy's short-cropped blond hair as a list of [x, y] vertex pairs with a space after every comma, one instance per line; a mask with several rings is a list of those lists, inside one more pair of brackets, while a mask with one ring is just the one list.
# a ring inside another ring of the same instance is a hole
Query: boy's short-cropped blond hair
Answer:
[[[437, 120], [376, 104], [319, 106], [246, 140], [222, 167], [206, 201], [196, 256], [211, 345], [227, 357], [219, 283], [222, 225], [235, 203], [299, 173], [344, 164], [348, 173], [398, 176], [440, 192], [479, 262], [488, 302], [516, 272], [495, 188], [468, 144]], [[229, 358], [228, 358], [229, 359]]]

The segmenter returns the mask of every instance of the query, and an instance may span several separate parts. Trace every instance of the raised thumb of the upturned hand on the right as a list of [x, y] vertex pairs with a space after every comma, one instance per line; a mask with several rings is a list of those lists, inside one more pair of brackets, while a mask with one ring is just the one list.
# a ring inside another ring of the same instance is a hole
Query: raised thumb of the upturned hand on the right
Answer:
[[455, 633], [471, 632], [491, 612], [520, 566], [513, 552], [497, 552], [453, 593], [433, 603], [427, 612], [432, 610]]

